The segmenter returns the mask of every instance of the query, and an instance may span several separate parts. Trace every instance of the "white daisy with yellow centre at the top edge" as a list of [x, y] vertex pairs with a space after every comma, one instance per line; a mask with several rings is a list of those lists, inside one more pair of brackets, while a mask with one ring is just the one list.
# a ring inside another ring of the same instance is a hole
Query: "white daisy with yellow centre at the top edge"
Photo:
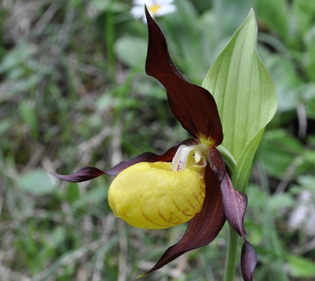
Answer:
[[174, 0], [133, 0], [131, 14], [135, 18], [142, 18], [143, 21], [146, 22], [144, 5], [147, 6], [147, 9], [152, 17], [160, 17], [176, 11], [176, 6], [173, 2]]

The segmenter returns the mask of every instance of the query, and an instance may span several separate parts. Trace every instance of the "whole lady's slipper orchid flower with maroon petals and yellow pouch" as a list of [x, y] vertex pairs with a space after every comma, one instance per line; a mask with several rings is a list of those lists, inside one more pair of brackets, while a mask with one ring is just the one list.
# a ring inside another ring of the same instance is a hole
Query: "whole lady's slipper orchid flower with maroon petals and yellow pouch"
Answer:
[[149, 30], [146, 72], [167, 91], [171, 111], [193, 139], [176, 144], [162, 155], [145, 152], [114, 168], [83, 168], [56, 177], [69, 182], [91, 180], [104, 173], [117, 176], [108, 200], [114, 214], [128, 224], [166, 228], [188, 222], [182, 239], [171, 246], [151, 273], [183, 253], [211, 243], [227, 219], [242, 237], [241, 269], [252, 280], [257, 255], [246, 240], [243, 217], [247, 196], [235, 190], [216, 148], [223, 140], [221, 120], [213, 96], [190, 84], [173, 64], [166, 40], [146, 9]]

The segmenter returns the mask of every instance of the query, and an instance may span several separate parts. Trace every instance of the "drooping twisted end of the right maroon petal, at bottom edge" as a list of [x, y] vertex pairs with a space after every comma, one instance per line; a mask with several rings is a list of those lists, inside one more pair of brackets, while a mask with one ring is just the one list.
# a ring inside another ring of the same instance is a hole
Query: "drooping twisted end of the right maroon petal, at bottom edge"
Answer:
[[251, 243], [245, 241], [241, 254], [241, 269], [244, 281], [252, 281], [257, 264], [257, 253]]

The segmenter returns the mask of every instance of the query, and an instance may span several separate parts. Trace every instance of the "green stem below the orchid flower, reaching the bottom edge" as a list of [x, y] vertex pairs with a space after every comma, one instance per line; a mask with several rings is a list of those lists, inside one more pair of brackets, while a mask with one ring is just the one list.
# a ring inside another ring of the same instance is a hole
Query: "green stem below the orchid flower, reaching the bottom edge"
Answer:
[[227, 252], [223, 280], [233, 281], [236, 264], [238, 234], [231, 225], [228, 226]]

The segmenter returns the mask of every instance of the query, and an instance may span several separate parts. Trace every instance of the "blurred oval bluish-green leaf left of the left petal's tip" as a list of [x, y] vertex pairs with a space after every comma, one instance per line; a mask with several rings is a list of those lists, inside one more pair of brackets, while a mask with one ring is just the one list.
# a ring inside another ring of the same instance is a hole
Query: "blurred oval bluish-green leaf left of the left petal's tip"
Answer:
[[33, 169], [22, 174], [17, 180], [17, 186], [38, 196], [50, 194], [55, 189], [54, 180], [43, 169]]

